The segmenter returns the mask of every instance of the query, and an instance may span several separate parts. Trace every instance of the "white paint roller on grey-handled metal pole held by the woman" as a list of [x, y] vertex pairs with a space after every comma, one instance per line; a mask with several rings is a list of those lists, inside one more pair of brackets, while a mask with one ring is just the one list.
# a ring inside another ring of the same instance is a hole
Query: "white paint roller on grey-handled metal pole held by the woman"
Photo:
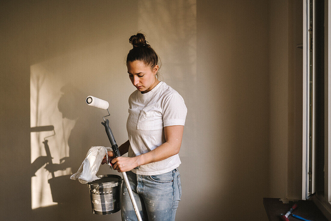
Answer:
[[[96, 98], [96, 97], [93, 97], [93, 96], [87, 96], [87, 98], [86, 98], [85, 101], [86, 101], [86, 104], [89, 105], [89, 106], [100, 108], [100, 109], [103, 109], [103, 110], [107, 110], [108, 111], [108, 115], [103, 116], [104, 122], [101, 122], [101, 124], [105, 126], [106, 133], [107, 133], [108, 139], [109, 139], [109, 141], [110, 141], [110, 143], [112, 145], [112, 149], [113, 149], [113, 152], [115, 154], [115, 157], [120, 157], [121, 155], [119, 153], [118, 145], [117, 145], [117, 143], [115, 141], [113, 132], [110, 129], [110, 126], [109, 126], [109, 120], [108, 119], [105, 120], [105, 117], [110, 116], [110, 113], [109, 113], [109, 110], [108, 110], [109, 103], [107, 101], [101, 100], [101, 99]], [[140, 213], [139, 213], [139, 209], [138, 209], [137, 203], [136, 203], [136, 201], [134, 199], [133, 192], [132, 192], [132, 189], [130, 187], [129, 180], [127, 179], [126, 173], [125, 172], [122, 172], [122, 176], [123, 176], [123, 180], [125, 182], [126, 188], [127, 188], [128, 192], [129, 192], [129, 196], [130, 196], [130, 199], [131, 199], [131, 202], [132, 202], [134, 211], [136, 213], [137, 219], [139, 221], [142, 221], [141, 216], [140, 216]]]

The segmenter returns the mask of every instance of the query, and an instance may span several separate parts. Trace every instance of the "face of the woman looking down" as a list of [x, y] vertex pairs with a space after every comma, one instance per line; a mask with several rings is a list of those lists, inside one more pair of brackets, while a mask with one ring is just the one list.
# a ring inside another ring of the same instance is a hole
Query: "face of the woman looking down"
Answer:
[[127, 62], [126, 67], [132, 84], [142, 94], [149, 92], [159, 83], [155, 77], [155, 74], [159, 70], [158, 65], [155, 65], [155, 67], [151, 69], [151, 67], [146, 66], [144, 62], [135, 60]]

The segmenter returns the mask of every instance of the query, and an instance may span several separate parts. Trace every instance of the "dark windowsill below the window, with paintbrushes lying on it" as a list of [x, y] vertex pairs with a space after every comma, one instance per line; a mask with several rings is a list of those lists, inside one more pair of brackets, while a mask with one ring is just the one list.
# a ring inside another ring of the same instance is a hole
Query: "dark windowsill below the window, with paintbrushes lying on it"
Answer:
[[[298, 207], [293, 210], [293, 214], [301, 216], [307, 220], [313, 221], [328, 221], [322, 212], [317, 208], [315, 203], [311, 200], [299, 200], [296, 202], [283, 203], [279, 198], [263, 198], [263, 205], [267, 213], [269, 221], [281, 221], [280, 214], [287, 213], [292, 205], [296, 203]], [[293, 216], [288, 217], [289, 221], [298, 221]]]

